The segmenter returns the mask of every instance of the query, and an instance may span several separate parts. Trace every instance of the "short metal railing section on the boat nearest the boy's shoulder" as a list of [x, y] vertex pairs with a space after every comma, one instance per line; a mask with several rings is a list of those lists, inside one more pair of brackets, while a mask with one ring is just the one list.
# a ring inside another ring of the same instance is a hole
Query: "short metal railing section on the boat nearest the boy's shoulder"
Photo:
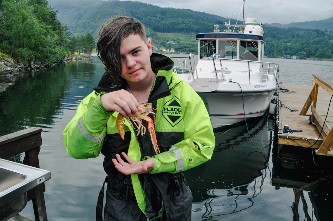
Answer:
[[[196, 72], [196, 68], [195, 68], [195, 57], [194, 54], [189, 54], [189, 56], [175, 56], [175, 57], [170, 57], [173, 62], [174, 62], [174, 66], [173, 66], [173, 72], [176, 74], [192, 74], [193, 80], [194, 78], [194, 71], [196, 74], [196, 78], [198, 78], [198, 73]], [[186, 64], [186, 61], [189, 61], [189, 67]], [[192, 63], [193, 62], [193, 63]], [[182, 65], [183, 64], [183, 65]], [[194, 71], [193, 71], [194, 70]]]

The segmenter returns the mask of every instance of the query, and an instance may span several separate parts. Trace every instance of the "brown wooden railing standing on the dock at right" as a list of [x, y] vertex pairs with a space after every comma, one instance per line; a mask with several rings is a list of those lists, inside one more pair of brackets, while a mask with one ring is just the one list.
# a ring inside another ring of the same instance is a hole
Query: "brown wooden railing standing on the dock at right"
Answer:
[[[318, 97], [318, 89], [322, 87], [328, 93], [333, 95], [333, 82], [327, 80], [326, 78], [313, 74], [315, 85], [305, 102], [302, 110], [300, 111], [299, 115], [309, 116], [309, 123], [315, 123], [317, 129], [319, 131], [323, 131], [321, 136], [324, 138], [324, 141], [321, 143], [316, 153], [318, 155], [329, 155], [333, 156], [332, 145], [333, 145], [333, 127], [329, 126], [326, 122], [324, 125], [324, 119], [316, 110], [317, 105], [317, 97]], [[312, 105], [311, 105], [312, 103]], [[307, 114], [307, 111], [311, 107], [311, 114]]]

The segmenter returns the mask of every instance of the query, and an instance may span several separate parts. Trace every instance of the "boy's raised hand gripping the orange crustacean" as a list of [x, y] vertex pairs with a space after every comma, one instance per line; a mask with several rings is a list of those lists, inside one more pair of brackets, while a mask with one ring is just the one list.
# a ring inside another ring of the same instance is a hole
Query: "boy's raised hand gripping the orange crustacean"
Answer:
[[126, 118], [130, 115], [137, 115], [141, 110], [137, 99], [126, 90], [101, 95], [101, 103], [105, 110], [117, 111]]

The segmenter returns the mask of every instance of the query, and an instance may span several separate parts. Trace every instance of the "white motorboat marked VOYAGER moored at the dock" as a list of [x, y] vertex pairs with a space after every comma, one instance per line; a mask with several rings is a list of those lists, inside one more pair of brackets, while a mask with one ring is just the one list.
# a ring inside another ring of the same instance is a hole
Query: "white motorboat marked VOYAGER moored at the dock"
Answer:
[[171, 58], [174, 72], [199, 94], [217, 129], [265, 114], [278, 89], [279, 69], [263, 62], [264, 32], [256, 19], [213, 30], [196, 34], [197, 63], [194, 54]]

